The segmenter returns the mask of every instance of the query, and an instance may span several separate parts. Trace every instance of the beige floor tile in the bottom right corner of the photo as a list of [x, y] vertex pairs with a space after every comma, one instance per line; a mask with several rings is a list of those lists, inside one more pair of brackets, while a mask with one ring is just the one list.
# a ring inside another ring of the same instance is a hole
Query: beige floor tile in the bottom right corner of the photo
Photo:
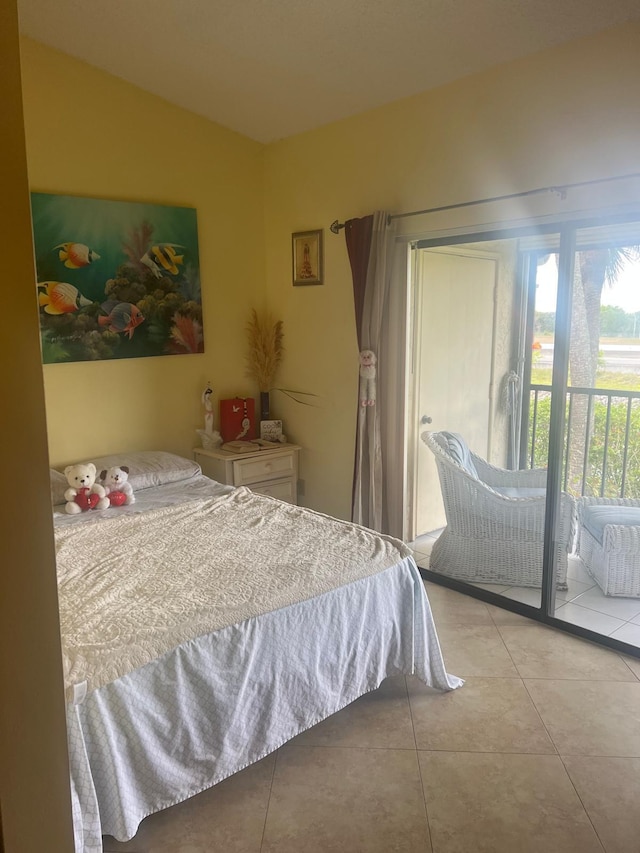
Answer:
[[563, 759], [607, 853], [637, 853], [640, 838], [640, 758]]

